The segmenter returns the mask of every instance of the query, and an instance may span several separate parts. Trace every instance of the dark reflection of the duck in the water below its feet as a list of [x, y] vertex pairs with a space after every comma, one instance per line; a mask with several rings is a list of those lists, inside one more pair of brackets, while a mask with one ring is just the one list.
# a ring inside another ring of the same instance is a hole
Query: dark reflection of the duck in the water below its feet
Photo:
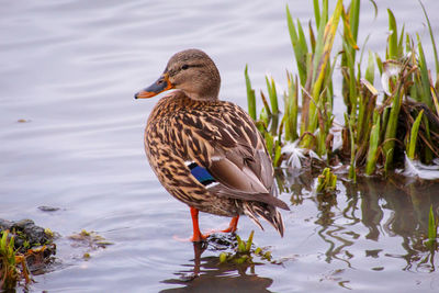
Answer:
[[[218, 266], [218, 257], [201, 258], [201, 253], [203, 253], [205, 248], [206, 244], [194, 243], [193, 271], [184, 270], [177, 272], [176, 274], [181, 275], [181, 279], [162, 281], [166, 284], [179, 284], [183, 285], [183, 288], [166, 289], [160, 292], [271, 292], [268, 288], [271, 286], [273, 280], [258, 277], [255, 273], [247, 274], [246, 271], [249, 266]], [[184, 264], [184, 267], [188, 266]]]

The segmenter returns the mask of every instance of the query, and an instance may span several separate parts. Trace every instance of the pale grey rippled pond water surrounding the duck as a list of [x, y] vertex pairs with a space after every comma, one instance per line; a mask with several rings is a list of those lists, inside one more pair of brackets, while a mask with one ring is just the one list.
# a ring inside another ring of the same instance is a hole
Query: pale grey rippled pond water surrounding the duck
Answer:
[[[425, 2], [438, 32], [439, 3]], [[336, 201], [328, 202], [313, 194], [308, 179], [290, 178], [293, 189], [281, 194], [292, 203], [283, 213], [284, 238], [267, 225], [260, 232], [248, 218], [240, 221], [239, 234], [256, 229], [255, 243], [269, 246], [281, 262], [254, 272], [218, 266], [219, 251], [212, 247], [200, 257], [192, 244], [173, 239], [191, 234], [189, 212], [146, 162], [143, 129], [155, 101], [134, 101], [133, 93], [157, 79], [170, 55], [188, 47], [213, 57], [222, 72], [221, 97], [240, 105], [246, 104], [246, 64], [256, 89], [264, 87], [266, 72], [284, 82], [284, 69], [295, 68], [284, 4], [2, 1], [0, 217], [32, 218], [63, 236], [95, 230], [114, 244], [90, 250], [63, 237], [57, 264], [34, 277], [31, 291], [438, 290], [436, 267], [419, 244], [429, 205], [437, 203], [436, 184], [415, 192], [406, 181], [372, 180], [358, 189], [339, 182]], [[308, 2], [289, 5], [303, 23], [313, 13]], [[380, 1], [379, 7], [374, 20], [373, 7], [363, 3], [360, 44], [370, 33], [368, 47], [382, 49], [390, 7], [399, 25], [404, 20], [406, 30], [421, 33], [431, 56], [417, 1]], [[41, 205], [60, 210], [45, 213]], [[204, 229], [227, 222], [201, 216]], [[193, 270], [201, 277], [182, 282]]]

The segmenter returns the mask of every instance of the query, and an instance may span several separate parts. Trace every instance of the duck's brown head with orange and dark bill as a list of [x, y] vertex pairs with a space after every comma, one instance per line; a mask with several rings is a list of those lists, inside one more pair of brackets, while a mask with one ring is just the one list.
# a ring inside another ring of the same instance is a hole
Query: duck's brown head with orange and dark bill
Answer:
[[134, 97], [145, 99], [166, 90], [180, 89], [194, 100], [216, 100], [219, 83], [218, 69], [207, 54], [200, 49], [185, 49], [169, 59], [156, 82]]

